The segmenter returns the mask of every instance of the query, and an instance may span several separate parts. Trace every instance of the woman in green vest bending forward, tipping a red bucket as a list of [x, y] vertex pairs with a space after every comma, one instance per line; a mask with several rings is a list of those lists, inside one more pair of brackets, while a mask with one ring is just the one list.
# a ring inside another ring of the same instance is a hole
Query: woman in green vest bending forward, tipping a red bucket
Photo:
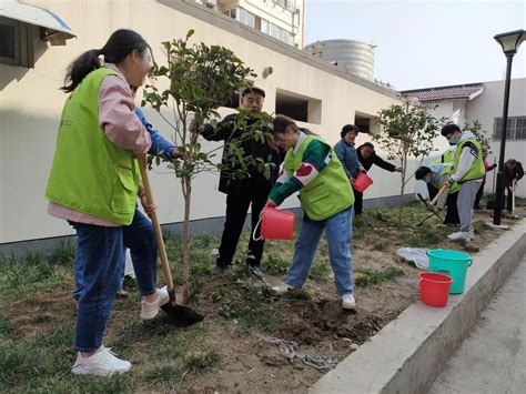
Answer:
[[300, 192], [304, 215], [286, 281], [272, 290], [282, 295], [303, 286], [325, 230], [342, 307], [354, 310], [351, 255], [354, 195], [345, 170], [330, 144], [308, 130], [299, 129], [292, 119], [279, 115], [273, 124], [274, 142], [287, 152], [266, 205], [277, 206]]

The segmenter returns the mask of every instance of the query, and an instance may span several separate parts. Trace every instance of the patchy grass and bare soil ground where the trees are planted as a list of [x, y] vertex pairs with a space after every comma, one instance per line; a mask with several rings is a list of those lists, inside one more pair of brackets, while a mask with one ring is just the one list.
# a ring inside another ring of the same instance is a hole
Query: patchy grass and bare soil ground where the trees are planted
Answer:
[[[524, 200], [517, 201], [526, 212]], [[443, 213], [441, 213], [443, 214]], [[304, 289], [280, 299], [270, 287], [290, 265], [293, 243], [269, 241], [263, 270], [266, 281], [251, 277], [243, 264], [249, 240], [240, 241], [237, 263], [224, 275], [210, 274], [220, 235], [192, 238], [192, 303], [206, 319], [180, 329], [160, 315], [142, 323], [133, 281], [131, 296], [115, 300], [104, 345], [130, 360], [132, 372], [111, 378], [74, 376], [73, 289], [74, 246], [63, 244], [45, 257], [0, 260], [0, 392], [6, 393], [128, 393], [290, 392], [306, 391], [326, 371], [289, 362], [264, 339], [294, 341], [301, 352], [342, 360], [418, 300], [418, 270], [402, 262], [396, 249], [458, 249], [447, 241], [451, 229], [429, 219], [418, 203], [404, 210], [366, 210], [354, 220], [353, 266], [358, 309], [343, 312], [323, 239]], [[502, 231], [487, 226], [488, 212], [477, 213], [475, 243], [484, 247]], [[508, 220], [508, 224], [513, 224]], [[297, 229], [296, 229], [297, 230]], [[297, 231], [296, 231], [297, 232]], [[165, 234], [175, 279], [181, 277], [181, 240]], [[159, 273], [159, 276], [161, 274]], [[161, 284], [161, 279], [160, 279]], [[161, 312], [162, 314], [162, 312]], [[351, 346], [354, 345], [354, 346]]]

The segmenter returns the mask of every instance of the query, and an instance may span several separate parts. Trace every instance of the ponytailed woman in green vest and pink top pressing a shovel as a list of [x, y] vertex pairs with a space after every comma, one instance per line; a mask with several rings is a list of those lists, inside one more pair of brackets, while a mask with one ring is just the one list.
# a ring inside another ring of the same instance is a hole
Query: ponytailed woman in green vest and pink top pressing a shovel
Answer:
[[77, 306], [74, 374], [109, 376], [131, 368], [102, 343], [124, 245], [143, 296], [141, 317], [155, 317], [169, 301], [165, 289], [155, 289], [152, 225], [136, 209], [136, 158], [145, 155], [151, 138], [134, 113], [130, 87], [140, 87], [151, 65], [150, 46], [122, 29], [102, 49], [74, 60], [62, 88], [71, 94], [62, 110], [45, 196], [48, 213], [77, 231], [75, 266], [82, 267], [83, 289]]

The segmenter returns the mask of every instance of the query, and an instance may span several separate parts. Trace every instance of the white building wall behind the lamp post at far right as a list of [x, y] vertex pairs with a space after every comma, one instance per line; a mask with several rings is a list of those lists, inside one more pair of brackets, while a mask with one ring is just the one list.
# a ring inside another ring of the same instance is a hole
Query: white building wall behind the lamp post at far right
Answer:
[[[495, 118], [503, 117], [504, 105], [504, 81], [484, 82], [484, 93], [469, 101], [466, 108], [466, 120], [473, 122], [478, 120], [487, 131], [488, 137], [493, 135]], [[508, 117], [526, 117], [526, 78], [512, 80], [509, 91]], [[493, 142], [489, 162], [494, 160], [498, 163], [500, 152], [500, 140]], [[516, 159], [526, 165], [526, 140], [507, 140], [505, 150], [505, 161]], [[494, 170], [487, 175], [486, 192], [493, 189]], [[526, 179], [518, 183], [517, 196], [526, 198]]]

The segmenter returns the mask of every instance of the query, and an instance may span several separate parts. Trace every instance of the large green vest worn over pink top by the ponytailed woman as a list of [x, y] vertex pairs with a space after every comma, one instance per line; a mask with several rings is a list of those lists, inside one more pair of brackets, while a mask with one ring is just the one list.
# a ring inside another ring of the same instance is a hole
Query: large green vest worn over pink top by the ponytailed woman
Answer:
[[102, 220], [130, 224], [135, 212], [140, 171], [133, 152], [115, 145], [99, 124], [99, 90], [118, 75], [90, 72], [65, 101], [45, 198]]

